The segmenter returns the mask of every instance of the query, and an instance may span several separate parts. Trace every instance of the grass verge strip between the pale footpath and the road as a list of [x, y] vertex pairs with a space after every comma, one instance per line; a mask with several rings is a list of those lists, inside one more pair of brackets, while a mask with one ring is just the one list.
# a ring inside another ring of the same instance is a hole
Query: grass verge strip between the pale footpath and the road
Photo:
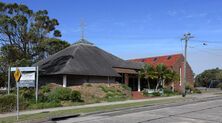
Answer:
[[[105, 112], [105, 111], [112, 111], [120, 108], [131, 108], [131, 107], [141, 107], [147, 105], [160, 105], [160, 104], [167, 104], [173, 103], [178, 101], [184, 101], [184, 98], [172, 98], [172, 99], [162, 99], [162, 100], [150, 100], [144, 102], [136, 102], [136, 103], [126, 103], [126, 104], [114, 104], [114, 105], [107, 105], [107, 106], [96, 106], [96, 107], [87, 107], [87, 108], [79, 108], [79, 109], [69, 109], [69, 110], [59, 110], [53, 112], [46, 112], [46, 113], [36, 113], [36, 114], [29, 114], [29, 115], [20, 115], [19, 122], [25, 121], [43, 121], [47, 120], [52, 117], [56, 116], [65, 116], [65, 115], [72, 115], [72, 114], [79, 114], [79, 113], [93, 113], [93, 112]], [[16, 116], [10, 116], [5, 118], [0, 118], [0, 123], [9, 123], [9, 122], [16, 122]]]

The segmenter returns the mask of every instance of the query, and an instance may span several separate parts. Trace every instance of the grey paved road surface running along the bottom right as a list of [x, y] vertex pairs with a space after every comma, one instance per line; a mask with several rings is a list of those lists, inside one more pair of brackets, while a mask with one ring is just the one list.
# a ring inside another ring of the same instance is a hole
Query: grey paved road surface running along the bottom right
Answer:
[[189, 104], [141, 107], [70, 118], [58, 123], [222, 123], [222, 98]]

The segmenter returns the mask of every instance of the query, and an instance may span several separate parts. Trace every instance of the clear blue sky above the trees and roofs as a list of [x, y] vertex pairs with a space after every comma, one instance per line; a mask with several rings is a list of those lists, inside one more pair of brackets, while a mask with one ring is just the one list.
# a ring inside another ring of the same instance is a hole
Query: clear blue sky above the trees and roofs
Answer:
[[70, 43], [80, 38], [84, 20], [86, 39], [123, 59], [182, 53], [180, 39], [191, 32], [188, 60], [194, 72], [222, 68], [221, 0], [3, 1], [48, 10]]

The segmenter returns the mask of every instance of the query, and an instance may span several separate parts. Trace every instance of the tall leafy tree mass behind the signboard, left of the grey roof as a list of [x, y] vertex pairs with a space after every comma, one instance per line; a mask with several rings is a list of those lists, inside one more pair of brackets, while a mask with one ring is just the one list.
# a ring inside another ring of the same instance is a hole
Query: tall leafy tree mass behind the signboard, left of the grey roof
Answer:
[[0, 2], [0, 81], [8, 66], [29, 66], [69, 44], [57, 39], [59, 22], [47, 10]]

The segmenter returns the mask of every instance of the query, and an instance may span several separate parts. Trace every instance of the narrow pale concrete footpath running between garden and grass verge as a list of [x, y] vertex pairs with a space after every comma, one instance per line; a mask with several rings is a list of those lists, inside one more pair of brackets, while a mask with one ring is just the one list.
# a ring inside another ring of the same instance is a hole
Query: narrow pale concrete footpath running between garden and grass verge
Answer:
[[[187, 95], [186, 98], [197, 98], [197, 99], [200, 98], [201, 99], [201, 98], [208, 98], [208, 97], [214, 97], [214, 96], [216, 96], [214, 93], [204, 93], [204, 94]], [[36, 114], [36, 113], [42, 113], [42, 112], [52, 112], [52, 111], [59, 111], [59, 110], [70, 110], [70, 109], [90, 108], [90, 107], [98, 107], [98, 106], [117, 105], [117, 104], [137, 103], [137, 102], [145, 102], [145, 101], [176, 99], [179, 97], [181, 96], [178, 95], [178, 96], [172, 96], [172, 97], [156, 97], [156, 98], [148, 98], [148, 99], [141, 99], [141, 100], [103, 102], [103, 103], [87, 104], [87, 105], [79, 105], [79, 106], [68, 106], [68, 107], [57, 107], [57, 108], [49, 108], [49, 109], [41, 109], [41, 110], [21, 111], [20, 115]], [[0, 114], [0, 118], [9, 117], [9, 116], [16, 116], [16, 112]]]

